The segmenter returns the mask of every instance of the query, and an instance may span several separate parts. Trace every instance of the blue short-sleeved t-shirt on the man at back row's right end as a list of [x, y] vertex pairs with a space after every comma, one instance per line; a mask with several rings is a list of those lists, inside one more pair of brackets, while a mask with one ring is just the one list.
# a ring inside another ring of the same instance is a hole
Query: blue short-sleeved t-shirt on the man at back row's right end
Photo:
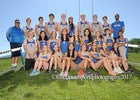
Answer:
[[111, 27], [113, 28], [113, 38], [118, 38], [118, 31], [122, 30], [124, 27], [123, 21], [117, 21], [111, 24]]

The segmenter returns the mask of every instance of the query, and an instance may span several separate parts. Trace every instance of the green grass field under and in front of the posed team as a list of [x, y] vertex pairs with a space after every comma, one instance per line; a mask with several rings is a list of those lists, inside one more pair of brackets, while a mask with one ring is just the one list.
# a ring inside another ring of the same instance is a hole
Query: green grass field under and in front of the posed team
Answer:
[[[140, 54], [129, 53], [129, 61], [140, 63]], [[0, 62], [0, 72], [10, 68], [10, 59], [0, 59]], [[0, 76], [0, 100], [140, 100], [140, 66], [131, 68], [133, 74], [101, 80], [53, 79], [55, 74], [44, 72], [29, 77], [31, 70], [11, 71]], [[99, 71], [107, 77], [105, 70]], [[70, 75], [76, 73], [72, 71]]]

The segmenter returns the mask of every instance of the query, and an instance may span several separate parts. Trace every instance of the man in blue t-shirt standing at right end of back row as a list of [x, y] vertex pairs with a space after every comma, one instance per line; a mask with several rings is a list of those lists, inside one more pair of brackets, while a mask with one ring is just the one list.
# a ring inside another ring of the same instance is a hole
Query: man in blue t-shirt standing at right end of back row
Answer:
[[111, 24], [111, 29], [112, 29], [112, 33], [113, 33], [113, 38], [116, 41], [116, 39], [118, 39], [118, 32], [119, 30], [122, 30], [124, 32], [125, 30], [125, 26], [124, 26], [124, 22], [119, 20], [119, 14], [115, 14], [115, 22]]

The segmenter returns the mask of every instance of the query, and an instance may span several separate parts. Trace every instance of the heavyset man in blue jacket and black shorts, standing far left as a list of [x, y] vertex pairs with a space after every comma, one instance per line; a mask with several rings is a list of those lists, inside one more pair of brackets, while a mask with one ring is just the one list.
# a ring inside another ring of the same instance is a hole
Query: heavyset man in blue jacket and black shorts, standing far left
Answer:
[[[24, 32], [20, 28], [19, 19], [15, 20], [15, 26], [10, 27], [6, 33], [7, 40], [10, 42], [11, 49], [22, 47], [24, 40]], [[17, 69], [18, 56], [20, 56], [20, 50], [12, 52], [12, 69]]]

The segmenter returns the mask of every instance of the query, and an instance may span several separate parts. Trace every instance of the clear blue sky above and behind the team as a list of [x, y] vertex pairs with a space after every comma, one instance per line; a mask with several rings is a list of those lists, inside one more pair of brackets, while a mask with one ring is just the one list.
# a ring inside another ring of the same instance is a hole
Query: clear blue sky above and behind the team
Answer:
[[[55, 14], [55, 21], [60, 22], [61, 14], [74, 18], [77, 25], [80, 14], [85, 14], [86, 19], [91, 22], [92, 14], [98, 15], [98, 21], [103, 16], [108, 17], [108, 22], [115, 21], [114, 15], [120, 14], [120, 21], [125, 23], [125, 37], [129, 40], [140, 38], [140, 0], [0, 0], [0, 51], [10, 49], [6, 39], [6, 32], [9, 27], [14, 26], [14, 20], [20, 19], [20, 27], [26, 25], [26, 18], [32, 19], [31, 26], [38, 24], [38, 17], [44, 17], [44, 24], [49, 20], [50, 13]], [[80, 10], [79, 10], [80, 8]], [[92, 12], [93, 11], [93, 12]], [[1, 56], [1, 55], [0, 55]]]

